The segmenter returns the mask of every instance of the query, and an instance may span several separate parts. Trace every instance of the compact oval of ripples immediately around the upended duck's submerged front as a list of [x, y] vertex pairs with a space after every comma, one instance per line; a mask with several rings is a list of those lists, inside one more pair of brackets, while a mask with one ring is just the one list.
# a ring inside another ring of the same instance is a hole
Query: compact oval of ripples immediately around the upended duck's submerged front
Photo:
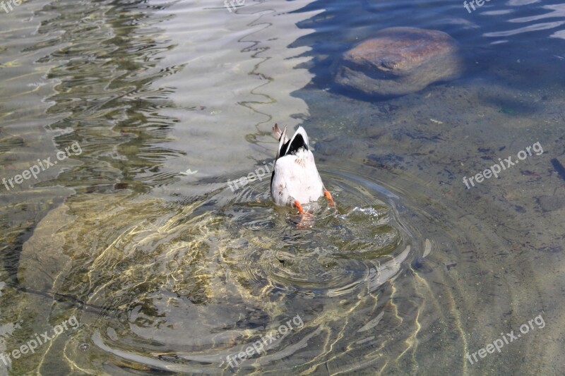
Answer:
[[255, 293], [355, 293], [371, 285], [382, 265], [396, 263], [398, 272], [407, 259], [413, 240], [398, 223], [398, 198], [383, 188], [371, 194], [339, 174], [324, 175], [337, 206], [321, 199], [309, 206], [312, 217], [274, 208], [265, 181], [247, 186], [242, 202], [224, 208], [233, 239], [225, 260]]

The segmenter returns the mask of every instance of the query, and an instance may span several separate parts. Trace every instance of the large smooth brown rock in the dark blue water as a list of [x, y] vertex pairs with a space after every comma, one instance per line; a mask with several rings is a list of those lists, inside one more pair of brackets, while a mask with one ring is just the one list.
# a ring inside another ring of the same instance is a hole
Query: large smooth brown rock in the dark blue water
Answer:
[[335, 82], [371, 96], [405, 95], [463, 72], [458, 44], [445, 32], [388, 28], [357, 44], [334, 66]]

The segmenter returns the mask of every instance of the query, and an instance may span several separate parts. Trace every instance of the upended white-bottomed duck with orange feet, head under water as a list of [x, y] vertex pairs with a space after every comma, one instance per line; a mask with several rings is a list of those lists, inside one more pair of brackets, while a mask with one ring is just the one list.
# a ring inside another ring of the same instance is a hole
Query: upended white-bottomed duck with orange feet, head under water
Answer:
[[273, 135], [278, 139], [275, 166], [270, 177], [270, 195], [275, 204], [295, 206], [300, 214], [309, 214], [302, 204], [314, 202], [325, 195], [330, 205], [334, 205], [331, 193], [324, 188], [316, 169], [314, 154], [308, 149], [308, 135], [304, 128], [298, 127], [289, 139], [287, 127], [281, 132], [275, 124]]

